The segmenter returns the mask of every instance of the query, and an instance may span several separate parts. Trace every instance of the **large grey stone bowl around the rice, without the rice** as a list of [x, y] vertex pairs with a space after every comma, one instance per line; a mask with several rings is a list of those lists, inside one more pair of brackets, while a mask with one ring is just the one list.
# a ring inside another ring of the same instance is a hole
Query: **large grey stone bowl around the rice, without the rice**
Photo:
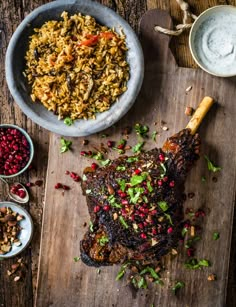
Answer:
[[[79, 12], [83, 15], [90, 15], [98, 23], [114, 28], [116, 31], [122, 28], [126, 35], [127, 62], [130, 66], [128, 89], [118, 98], [118, 101], [108, 111], [98, 113], [96, 119], [76, 120], [71, 126], [66, 126], [63, 120], [59, 121], [57, 116], [49, 112], [42, 104], [32, 102], [30, 87], [23, 76], [24, 57], [33, 29], [42, 26], [48, 20], [60, 20], [63, 11], [67, 11], [69, 15]], [[10, 40], [5, 66], [9, 90], [27, 117], [47, 130], [75, 137], [102, 131], [123, 117], [135, 102], [144, 75], [142, 48], [132, 28], [114, 11], [91, 0], [58, 0], [42, 5], [31, 12], [18, 26]]]

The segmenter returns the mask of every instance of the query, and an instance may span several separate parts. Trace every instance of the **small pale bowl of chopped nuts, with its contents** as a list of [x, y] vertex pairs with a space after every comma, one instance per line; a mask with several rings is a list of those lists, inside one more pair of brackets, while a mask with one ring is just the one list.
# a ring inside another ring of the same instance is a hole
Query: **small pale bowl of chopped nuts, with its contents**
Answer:
[[0, 202], [0, 259], [21, 253], [30, 243], [33, 221], [29, 213], [12, 202]]

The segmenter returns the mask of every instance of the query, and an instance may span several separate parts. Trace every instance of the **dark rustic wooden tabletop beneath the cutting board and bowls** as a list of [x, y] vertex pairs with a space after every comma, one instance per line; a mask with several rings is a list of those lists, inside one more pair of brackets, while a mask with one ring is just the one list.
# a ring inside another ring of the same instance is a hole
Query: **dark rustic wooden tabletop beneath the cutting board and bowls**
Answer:
[[[29, 181], [35, 182], [36, 180], [43, 181], [41, 186], [35, 186], [30, 189], [30, 203], [25, 206], [33, 217], [35, 232], [31, 247], [22, 254], [23, 262], [27, 266], [26, 274], [23, 280], [20, 282], [14, 282], [12, 278], [7, 275], [7, 270], [10, 269], [11, 265], [16, 262], [16, 259], [9, 259], [0, 262], [0, 306], [4, 307], [30, 307], [33, 305], [49, 146], [49, 132], [37, 126], [30, 119], [28, 119], [14, 103], [14, 100], [8, 91], [4, 70], [5, 53], [9, 39], [21, 20], [34, 8], [47, 2], [49, 1], [8, 0], [0, 2], [0, 123], [11, 123], [25, 128], [32, 136], [35, 144], [33, 169], [22, 175], [19, 178], [19, 181], [23, 183]], [[103, 0], [101, 2], [117, 11], [136, 31], [138, 29], [138, 22], [142, 14], [153, 8], [169, 10], [174, 23], [180, 23], [182, 21], [182, 13], [175, 0]], [[191, 5], [192, 12], [196, 15], [214, 5], [236, 5], [236, 0], [189, 0], [188, 2]], [[180, 37], [173, 38], [171, 48], [179, 66], [196, 67], [189, 52], [187, 33], [181, 35]], [[4, 199], [6, 199], [6, 191], [4, 190], [4, 187], [0, 185], [0, 201]], [[236, 306], [235, 245], [236, 217], [234, 218], [232, 237], [227, 306]]]

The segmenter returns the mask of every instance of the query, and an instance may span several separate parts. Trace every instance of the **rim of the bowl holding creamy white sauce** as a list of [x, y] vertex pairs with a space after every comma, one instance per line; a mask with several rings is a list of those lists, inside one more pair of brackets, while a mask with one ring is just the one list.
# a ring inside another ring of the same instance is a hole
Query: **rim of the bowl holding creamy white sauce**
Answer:
[[[193, 43], [193, 33], [194, 31], [196, 31], [196, 27], [199, 27], [201, 25], [201, 18], [204, 17], [205, 14], [211, 12], [212, 14], [214, 14], [215, 10], [220, 10], [221, 8], [227, 8], [229, 10], [234, 10], [235, 11], [235, 15], [236, 15], [236, 6], [233, 5], [227, 5], [227, 4], [222, 4], [222, 5], [215, 5], [213, 7], [210, 7], [209, 9], [205, 10], [204, 12], [202, 12], [197, 19], [194, 21], [190, 33], [189, 33], [189, 48], [190, 48], [190, 52], [192, 54], [192, 57], [194, 59], [194, 61], [197, 63], [197, 65], [199, 67], [201, 67], [201, 69], [203, 69], [204, 71], [206, 71], [207, 73], [216, 76], [216, 77], [234, 77], [236, 74], [216, 74], [215, 72], [207, 69], [205, 66], [203, 66], [200, 61], [198, 60], [195, 48], [194, 48], [194, 43]], [[194, 34], [195, 35], [195, 34]]]

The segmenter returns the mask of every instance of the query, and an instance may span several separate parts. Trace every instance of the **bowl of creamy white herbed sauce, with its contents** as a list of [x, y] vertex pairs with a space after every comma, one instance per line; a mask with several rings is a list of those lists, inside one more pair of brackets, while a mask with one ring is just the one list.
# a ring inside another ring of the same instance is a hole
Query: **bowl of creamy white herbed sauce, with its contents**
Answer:
[[189, 36], [195, 62], [218, 77], [236, 75], [236, 7], [219, 5], [195, 20]]

